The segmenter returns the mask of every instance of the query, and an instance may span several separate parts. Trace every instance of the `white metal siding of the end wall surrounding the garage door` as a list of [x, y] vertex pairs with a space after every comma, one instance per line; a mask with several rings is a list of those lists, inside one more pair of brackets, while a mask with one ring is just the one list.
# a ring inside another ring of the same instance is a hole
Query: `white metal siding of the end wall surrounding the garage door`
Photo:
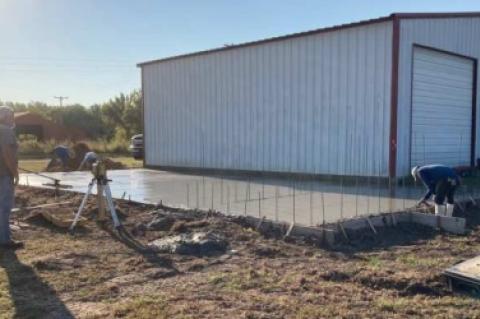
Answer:
[[[397, 175], [407, 175], [410, 170], [413, 44], [479, 59], [479, 41], [480, 18], [403, 19], [400, 21]], [[480, 84], [480, 81], [477, 80], [477, 83]], [[480, 87], [477, 86], [476, 90], [479, 92]], [[480, 95], [477, 93], [477, 96]], [[480, 154], [478, 104], [477, 100], [476, 157]], [[470, 140], [462, 141], [462, 144], [470, 145]]]

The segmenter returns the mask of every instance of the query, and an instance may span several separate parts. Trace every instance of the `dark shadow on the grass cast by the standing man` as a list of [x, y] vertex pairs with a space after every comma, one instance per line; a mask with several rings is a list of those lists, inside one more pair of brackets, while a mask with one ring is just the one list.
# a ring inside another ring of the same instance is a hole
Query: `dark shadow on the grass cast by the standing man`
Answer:
[[32, 267], [23, 264], [14, 251], [0, 251], [0, 267], [8, 277], [13, 318], [74, 318], [56, 291], [43, 282]]

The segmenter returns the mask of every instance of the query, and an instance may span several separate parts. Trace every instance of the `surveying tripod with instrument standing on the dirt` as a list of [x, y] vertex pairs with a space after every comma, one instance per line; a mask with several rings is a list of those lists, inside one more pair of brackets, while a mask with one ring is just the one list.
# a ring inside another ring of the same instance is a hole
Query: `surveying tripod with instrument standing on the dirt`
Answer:
[[122, 225], [118, 218], [117, 212], [115, 211], [115, 205], [113, 204], [112, 192], [108, 184], [108, 182], [111, 182], [111, 180], [107, 178], [107, 169], [105, 167], [105, 163], [101, 160], [94, 163], [92, 165], [92, 174], [93, 174], [92, 181], [88, 184], [87, 192], [85, 193], [85, 196], [82, 199], [82, 203], [80, 204], [80, 207], [78, 208], [78, 211], [75, 214], [73, 223], [70, 226], [70, 231], [74, 230], [78, 220], [80, 219], [80, 215], [82, 214], [82, 211], [85, 208], [87, 199], [92, 193], [92, 189], [95, 184], [97, 185], [97, 205], [98, 205], [97, 220], [99, 222], [106, 221], [106, 207], [105, 207], [105, 201], [106, 201], [108, 205], [108, 209], [112, 216], [113, 225], [116, 229], [119, 229]]

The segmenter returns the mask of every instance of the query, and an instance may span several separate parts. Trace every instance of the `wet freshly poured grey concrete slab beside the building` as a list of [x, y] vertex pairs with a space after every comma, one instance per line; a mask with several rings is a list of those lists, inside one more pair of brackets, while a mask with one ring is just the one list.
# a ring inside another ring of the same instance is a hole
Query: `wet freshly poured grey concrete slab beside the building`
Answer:
[[[283, 222], [318, 225], [345, 218], [372, 215], [411, 207], [423, 188], [397, 187], [389, 198], [386, 185], [301, 181], [280, 178], [212, 177], [147, 169], [108, 173], [115, 198], [190, 208], [215, 209], [226, 214], [266, 217]], [[45, 173], [85, 192], [90, 172]], [[20, 184], [43, 186], [48, 179], [22, 174]]]

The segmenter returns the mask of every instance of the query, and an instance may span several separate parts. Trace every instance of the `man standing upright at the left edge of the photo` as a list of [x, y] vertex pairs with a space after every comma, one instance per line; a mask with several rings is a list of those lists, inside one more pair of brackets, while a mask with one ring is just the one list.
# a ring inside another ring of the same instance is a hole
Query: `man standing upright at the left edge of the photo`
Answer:
[[15, 185], [18, 184], [17, 139], [13, 110], [0, 106], [0, 248], [18, 249], [22, 242], [14, 241], [10, 232]]

